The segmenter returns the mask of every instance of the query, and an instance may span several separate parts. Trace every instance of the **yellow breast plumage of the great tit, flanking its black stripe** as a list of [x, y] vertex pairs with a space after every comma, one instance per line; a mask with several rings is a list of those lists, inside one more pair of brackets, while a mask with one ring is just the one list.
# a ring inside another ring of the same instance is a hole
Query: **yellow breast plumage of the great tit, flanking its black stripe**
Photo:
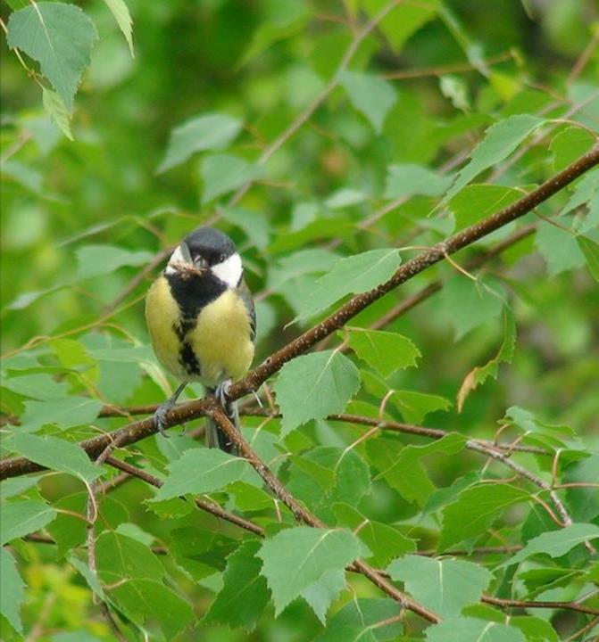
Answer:
[[[164, 276], [159, 276], [146, 297], [146, 321], [156, 357], [181, 381], [198, 379], [211, 388], [226, 379], [244, 376], [254, 358], [250, 317], [244, 301], [226, 290], [200, 310], [196, 325], [181, 332], [181, 312]], [[193, 350], [200, 374], [185, 366], [185, 344]]]

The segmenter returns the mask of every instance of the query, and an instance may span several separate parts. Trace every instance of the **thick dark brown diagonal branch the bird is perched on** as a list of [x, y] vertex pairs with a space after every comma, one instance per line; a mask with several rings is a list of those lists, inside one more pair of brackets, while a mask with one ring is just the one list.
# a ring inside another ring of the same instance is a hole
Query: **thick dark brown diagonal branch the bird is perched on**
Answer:
[[[387, 294], [387, 292], [391, 292], [399, 285], [420, 274], [420, 272], [445, 259], [446, 255], [462, 250], [462, 248], [476, 243], [500, 227], [528, 214], [528, 212], [534, 210], [537, 205], [545, 202], [566, 185], [570, 185], [570, 183], [582, 176], [588, 169], [594, 168], [597, 164], [599, 164], [599, 144], [595, 144], [592, 150], [583, 154], [577, 161], [574, 161], [566, 169], [563, 169], [555, 176], [546, 180], [545, 183], [537, 187], [533, 192], [523, 196], [519, 201], [513, 202], [512, 205], [503, 208], [503, 210], [499, 210], [475, 225], [450, 236], [445, 241], [436, 243], [427, 251], [423, 251], [417, 257], [403, 263], [403, 265], [395, 271], [395, 274], [385, 283], [380, 284], [369, 292], [357, 294], [337, 309], [337, 311], [321, 321], [320, 324], [315, 325], [292, 342], [289, 342], [285, 347], [275, 351], [269, 358], [266, 358], [260, 366], [255, 367], [254, 370], [246, 374], [241, 381], [233, 384], [229, 391], [231, 399], [239, 399], [249, 392], [258, 390], [262, 383], [272, 374], [278, 372], [287, 361], [298, 357], [306, 350], [312, 348], [316, 343], [329, 336], [329, 334], [336, 332], [339, 328], [343, 327], [349, 319], [355, 317], [358, 313], [362, 312], [363, 309], [368, 308], [370, 304], [379, 300]], [[208, 398], [182, 404], [180, 407], [175, 407], [171, 410], [166, 416], [165, 424], [167, 427], [183, 424], [186, 421], [204, 415], [208, 407]], [[83, 441], [80, 446], [86, 450], [90, 457], [97, 457], [108, 443], [114, 439], [118, 439], [120, 445], [125, 446], [145, 439], [155, 432], [154, 420], [148, 418], [124, 426], [110, 434], [103, 434], [93, 439]], [[24, 457], [5, 458], [0, 462], [0, 479], [32, 473], [38, 470], [43, 470], [43, 467], [30, 462]]]

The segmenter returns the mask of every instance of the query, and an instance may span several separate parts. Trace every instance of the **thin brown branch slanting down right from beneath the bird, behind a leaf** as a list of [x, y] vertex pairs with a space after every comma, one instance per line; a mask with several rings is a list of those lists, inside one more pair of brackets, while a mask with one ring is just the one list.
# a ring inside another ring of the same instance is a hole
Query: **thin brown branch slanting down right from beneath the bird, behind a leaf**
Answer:
[[[265, 481], [270, 490], [289, 508], [298, 522], [303, 522], [314, 528], [327, 528], [325, 523], [321, 522], [318, 517], [302, 506], [279, 479], [271, 473], [269, 467], [258, 457], [254, 449], [244, 440], [241, 432], [237, 431], [237, 428], [231, 424], [228, 417], [224, 415], [222, 408], [216, 406], [216, 403], [214, 403], [211, 408], [210, 416], [219, 424], [220, 429], [225, 432], [231, 443], [235, 445], [237, 452], [243, 455], [250, 465], [252, 465], [256, 473], [262, 477], [262, 480]], [[412, 611], [412, 613], [417, 613], [420, 617], [430, 622], [441, 621], [437, 613], [429, 611], [428, 608], [415, 602], [411, 597], [402, 593], [398, 588], [395, 588], [387, 578], [383, 577], [369, 564], [362, 562], [362, 560], [354, 560], [354, 563], [351, 564], [349, 568], [362, 573], [362, 575], [367, 577], [375, 586], [387, 593], [395, 602], [402, 605], [403, 608]]]

